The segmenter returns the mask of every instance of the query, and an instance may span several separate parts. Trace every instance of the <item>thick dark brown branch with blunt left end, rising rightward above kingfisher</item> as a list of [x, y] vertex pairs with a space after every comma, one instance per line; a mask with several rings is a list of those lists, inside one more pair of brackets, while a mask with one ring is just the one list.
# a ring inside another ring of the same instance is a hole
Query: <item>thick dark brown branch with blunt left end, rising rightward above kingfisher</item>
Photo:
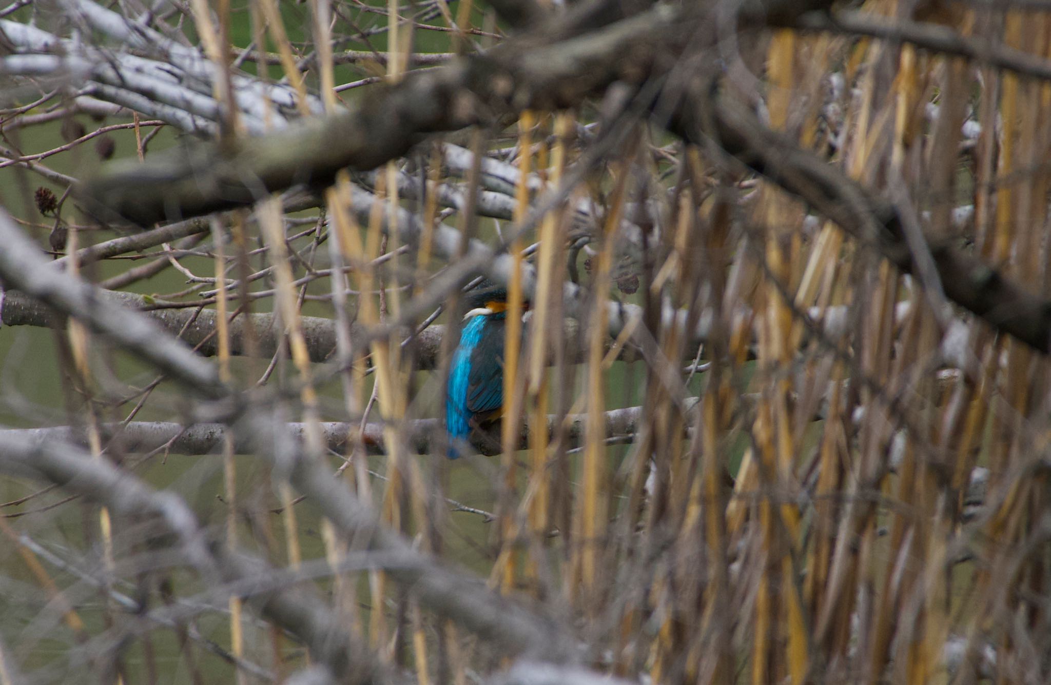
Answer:
[[[742, 24], [784, 23], [829, 4], [750, 0], [730, 16]], [[614, 81], [637, 82], [684, 43], [715, 40], [713, 21], [699, 7], [658, 3], [579, 38], [550, 43], [538, 32], [483, 56], [409, 75], [358, 109], [232, 147], [203, 145], [144, 166], [115, 165], [81, 198], [102, 217], [145, 226], [252, 204], [295, 184], [326, 185], [341, 169], [370, 170], [406, 153], [423, 136], [527, 108], [573, 106]]]

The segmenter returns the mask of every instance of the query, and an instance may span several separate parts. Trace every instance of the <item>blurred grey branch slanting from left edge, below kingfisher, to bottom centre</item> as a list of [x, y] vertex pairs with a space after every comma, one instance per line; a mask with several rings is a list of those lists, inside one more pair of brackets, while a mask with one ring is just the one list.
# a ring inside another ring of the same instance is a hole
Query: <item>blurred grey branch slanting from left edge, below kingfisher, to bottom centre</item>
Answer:
[[[416, 555], [408, 541], [382, 526], [375, 514], [358, 502], [343, 482], [333, 479], [312, 457], [303, 454], [300, 443], [282, 421], [273, 420], [265, 410], [245, 404], [220, 383], [208, 362], [141, 313], [100, 298], [95, 289], [79, 279], [49, 271], [36, 246], [2, 214], [0, 242], [7, 245], [7, 249], [0, 252], [0, 277], [56, 309], [77, 316], [127, 351], [171, 374], [198, 396], [234, 400], [233, 424], [239, 439], [270, 459], [279, 473], [287, 474], [292, 485], [308, 495], [345, 536], [360, 540], [367, 548], [410, 557]], [[30, 444], [26, 449], [36, 448]], [[49, 479], [64, 485], [73, 477], [56, 475]], [[92, 496], [99, 495], [92, 493]], [[487, 591], [480, 581], [470, 579], [462, 572], [417, 557], [415, 566], [392, 570], [391, 576], [412, 588], [431, 610], [461, 623], [509, 653], [542, 656], [555, 661], [574, 658], [576, 642], [553, 621]], [[308, 616], [295, 602], [282, 601], [273, 610], [281, 614], [283, 622], [296, 624], [301, 631], [307, 631], [308, 641], [324, 637], [313, 626], [300, 625]]]

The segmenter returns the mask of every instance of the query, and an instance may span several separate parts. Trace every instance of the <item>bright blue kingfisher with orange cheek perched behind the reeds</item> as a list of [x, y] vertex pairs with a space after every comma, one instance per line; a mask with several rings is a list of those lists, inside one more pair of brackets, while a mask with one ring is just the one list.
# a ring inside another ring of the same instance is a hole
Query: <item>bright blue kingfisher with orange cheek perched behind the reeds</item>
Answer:
[[467, 294], [459, 345], [453, 352], [446, 391], [446, 431], [450, 459], [475, 425], [499, 418], [503, 407], [503, 336], [508, 293], [483, 282]]

